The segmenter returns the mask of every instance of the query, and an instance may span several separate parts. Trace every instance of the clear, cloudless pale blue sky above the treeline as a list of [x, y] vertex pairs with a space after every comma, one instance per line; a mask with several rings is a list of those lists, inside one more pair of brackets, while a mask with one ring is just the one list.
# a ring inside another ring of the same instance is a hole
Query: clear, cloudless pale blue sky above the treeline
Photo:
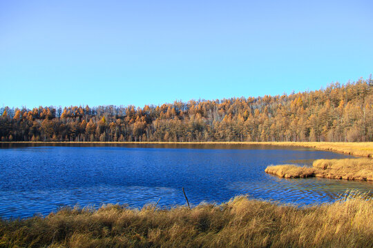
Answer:
[[0, 0], [0, 104], [318, 90], [373, 73], [373, 1]]

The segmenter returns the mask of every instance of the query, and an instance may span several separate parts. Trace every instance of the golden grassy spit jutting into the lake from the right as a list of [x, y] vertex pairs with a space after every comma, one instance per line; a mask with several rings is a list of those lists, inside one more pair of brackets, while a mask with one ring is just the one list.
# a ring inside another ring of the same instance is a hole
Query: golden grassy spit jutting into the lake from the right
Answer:
[[268, 166], [265, 172], [283, 178], [323, 177], [347, 180], [373, 181], [371, 158], [318, 159], [312, 167], [296, 165]]

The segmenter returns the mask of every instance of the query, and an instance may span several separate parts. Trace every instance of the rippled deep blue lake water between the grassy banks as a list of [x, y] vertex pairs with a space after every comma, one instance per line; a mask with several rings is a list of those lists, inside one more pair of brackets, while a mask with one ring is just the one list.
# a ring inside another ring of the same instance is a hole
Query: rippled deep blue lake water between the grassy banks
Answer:
[[236, 195], [314, 204], [347, 189], [373, 192], [367, 182], [283, 179], [267, 165], [310, 164], [343, 154], [248, 145], [21, 146], [0, 149], [0, 217], [49, 214], [59, 207], [119, 203], [142, 207], [222, 203]]

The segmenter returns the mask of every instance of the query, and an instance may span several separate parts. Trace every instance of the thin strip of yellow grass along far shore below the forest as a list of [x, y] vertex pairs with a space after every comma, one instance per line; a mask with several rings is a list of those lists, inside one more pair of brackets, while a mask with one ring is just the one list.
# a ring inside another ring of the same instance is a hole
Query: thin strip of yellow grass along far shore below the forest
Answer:
[[54, 143], [54, 144], [195, 144], [195, 145], [277, 145], [307, 147], [356, 156], [373, 157], [373, 142], [0, 142], [0, 143]]

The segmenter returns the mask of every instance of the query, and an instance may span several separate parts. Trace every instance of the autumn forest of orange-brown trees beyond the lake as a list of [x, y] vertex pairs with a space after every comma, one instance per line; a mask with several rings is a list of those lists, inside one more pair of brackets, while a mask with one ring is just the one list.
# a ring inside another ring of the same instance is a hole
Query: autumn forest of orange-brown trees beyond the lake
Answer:
[[373, 79], [163, 105], [1, 107], [1, 141], [373, 141]]

